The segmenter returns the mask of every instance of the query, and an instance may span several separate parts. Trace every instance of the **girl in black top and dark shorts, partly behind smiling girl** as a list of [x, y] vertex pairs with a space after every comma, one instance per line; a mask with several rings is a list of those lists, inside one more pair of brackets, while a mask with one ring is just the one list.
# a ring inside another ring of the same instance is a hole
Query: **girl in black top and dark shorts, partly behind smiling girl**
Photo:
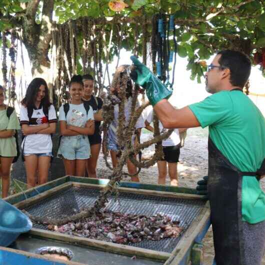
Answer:
[[102, 117], [98, 114], [98, 111], [102, 108], [103, 101], [100, 97], [93, 95], [94, 89], [94, 78], [90, 74], [84, 74], [82, 76], [83, 80], [83, 96], [82, 100], [84, 104], [89, 104], [93, 109], [94, 120], [95, 120], [95, 130], [92, 135], [88, 135], [88, 140], [90, 143], [91, 156], [86, 162], [86, 171], [88, 177], [96, 177], [96, 163], [101, 147], [101, 133], [100, 133], [100, 121]]

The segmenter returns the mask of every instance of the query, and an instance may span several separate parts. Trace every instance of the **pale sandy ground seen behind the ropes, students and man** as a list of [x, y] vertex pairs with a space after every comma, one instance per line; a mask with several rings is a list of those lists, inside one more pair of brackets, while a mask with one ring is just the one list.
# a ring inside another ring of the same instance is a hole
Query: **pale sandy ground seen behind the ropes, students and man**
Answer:
[[[151, 137], [150, 133], [143, 133], [141, 141]], [[202, 176], [207, 174], [208, 167], [208, 151], [207, 151], [208, 130], [202, 128], [188, 129], [184, 146], [180, 149], [180, 158], [177, 165], [179, 186], [192, 187], [196, 186], [196, 182]], [[143, 150], [143, 156], [149, 156], [153, 152], [153, 146]], [[109, 157], [110, 162], [110, 157]], [[105, 177], [110, 171], [106, 168], [102, 154], [98, 160], [98, 177]], [[157, 166], [156, 164], [150, 168], [143, 168], [139, 174], [140, 181], [144, 183], [157, 183]], [[169, 184], [169, 177], [166, 179]], [[261, 186], [265, 191], [265, 179], [261, 181]], [[209, 228], [204, 239], [204, 265], [212, 265], [214, 256], [212, 230]], [[265, 255], [262, 260], [265, 265]]]

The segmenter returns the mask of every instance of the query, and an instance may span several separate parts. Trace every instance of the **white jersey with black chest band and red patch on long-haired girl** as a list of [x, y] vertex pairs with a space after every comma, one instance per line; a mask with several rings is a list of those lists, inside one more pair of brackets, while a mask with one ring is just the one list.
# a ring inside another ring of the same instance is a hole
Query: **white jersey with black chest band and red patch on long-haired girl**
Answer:
[[[30, 120], [27, 115], [27, 108], [20, 108], [20, 124], [28, 124], [29, 126], [38, 126], [44, 123], [57, 122], [56, 112], [53, 105], [49, 106], [48, 119], [40, 109], [33, 109]], [[24, 146], [23, 146], [24, 145]], [[52, 150], [52, 141], [50, 134], [34, 133], [24, 137], [21, 148], [24, 148], [24, 153], [46, 153]]]

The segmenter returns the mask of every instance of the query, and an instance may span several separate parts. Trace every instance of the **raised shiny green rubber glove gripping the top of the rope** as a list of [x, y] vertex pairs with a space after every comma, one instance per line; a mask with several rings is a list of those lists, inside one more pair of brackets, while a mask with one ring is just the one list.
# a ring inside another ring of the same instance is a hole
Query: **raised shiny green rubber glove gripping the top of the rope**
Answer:
[[169, 98], [172, 90], [168, 89], [136, 56], [130, 56], [135, 68], [131, 71], [131, 79], [146, 89], [146, 95], [154, 106], [163, 98]]

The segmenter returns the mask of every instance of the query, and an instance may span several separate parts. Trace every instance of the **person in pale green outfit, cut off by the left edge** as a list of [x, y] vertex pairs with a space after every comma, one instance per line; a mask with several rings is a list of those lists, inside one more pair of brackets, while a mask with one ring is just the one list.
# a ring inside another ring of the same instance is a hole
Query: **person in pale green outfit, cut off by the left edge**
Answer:
[[10, 167], [16, 156], [14, 132], [20, 129], [15, 110], [8, 117], [4, 104], [4, 89], [0, 85], [0, 178], [2, 179], [2, 198], [8, 195], [10, 185]]

